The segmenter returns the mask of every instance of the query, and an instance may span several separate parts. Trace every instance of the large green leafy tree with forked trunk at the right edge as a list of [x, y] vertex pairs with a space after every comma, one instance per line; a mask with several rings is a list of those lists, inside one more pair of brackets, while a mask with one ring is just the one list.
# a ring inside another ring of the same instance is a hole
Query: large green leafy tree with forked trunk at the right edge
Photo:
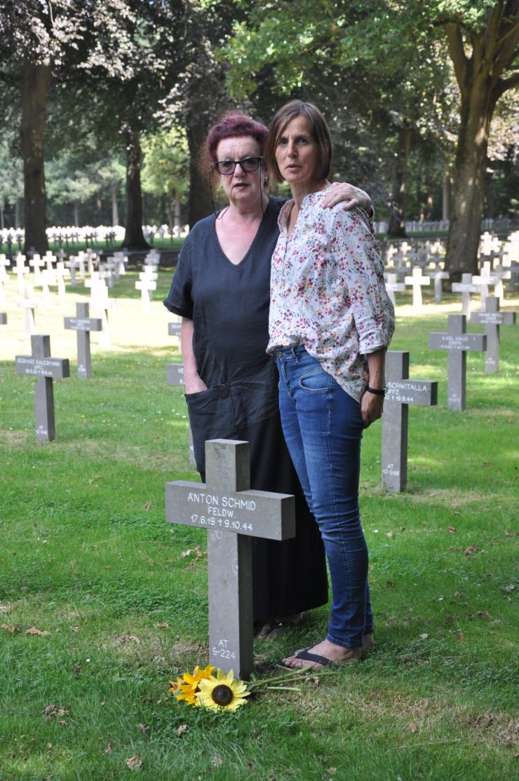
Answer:
[[328, 70], [349, 95], [360, 73], [373, 116], [396, 112], [402, 130], [443, 137], [444, 148], [456, 93], [442, 67], [446, 48], [459, 96], [448, 264], [454, 275], [474, 271], [490, 124], [496, 102], [519, 80], [517, 0], [247, 5], [247, 20], [236, 23], [226, 48], [235, 94], [254, 91], [265, 70], [279, 95]]

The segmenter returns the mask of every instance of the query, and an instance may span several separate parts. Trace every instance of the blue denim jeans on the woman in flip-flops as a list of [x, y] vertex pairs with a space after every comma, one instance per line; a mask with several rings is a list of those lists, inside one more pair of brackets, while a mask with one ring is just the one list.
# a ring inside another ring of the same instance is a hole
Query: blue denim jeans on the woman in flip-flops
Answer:
[[274, 358], [283, 433], [330, 568], [328, 640], [360, 647], [373, 632], [359, 509], [360, 405], [301, 345], [277, 348]]

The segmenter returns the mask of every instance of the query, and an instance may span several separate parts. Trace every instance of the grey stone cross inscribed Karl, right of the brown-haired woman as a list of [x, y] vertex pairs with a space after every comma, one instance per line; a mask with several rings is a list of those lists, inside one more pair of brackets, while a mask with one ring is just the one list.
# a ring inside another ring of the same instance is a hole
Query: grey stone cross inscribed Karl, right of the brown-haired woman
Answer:
[[461, 412], [465, 408], [467, 387], [467, 351], [486, 350], [486, 337], [482, 333], [465, 333], [467, 318], [449, 315], [448, 333], [429, 333], [429, 347], [447, 350], [447, 407]]

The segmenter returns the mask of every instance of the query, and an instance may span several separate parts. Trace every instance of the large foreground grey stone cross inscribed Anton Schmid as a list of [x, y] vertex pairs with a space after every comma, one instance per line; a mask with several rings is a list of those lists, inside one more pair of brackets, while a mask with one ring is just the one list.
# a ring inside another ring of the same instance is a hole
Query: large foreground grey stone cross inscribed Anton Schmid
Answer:
[[206, 483], [166, 483], [166, 521], [207, 530], [209, 663], [249, 677], [254, 667], [252, 537], [295, 536], [295, 499], [249, 490], [249, 443], [206, 442]]

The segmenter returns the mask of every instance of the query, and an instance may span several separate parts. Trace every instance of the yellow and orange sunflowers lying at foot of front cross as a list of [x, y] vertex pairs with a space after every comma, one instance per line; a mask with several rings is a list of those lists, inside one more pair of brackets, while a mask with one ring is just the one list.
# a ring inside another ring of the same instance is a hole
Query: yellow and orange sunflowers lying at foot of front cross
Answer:
[[216, 676], [213, 672], [216, 668], [213, 665], [207, 665], [200, 669], [196, 665], [192, 673], [184, 672], [181, 678], [176, 681], [170, 681], [171, 694], [178, 701], [184, 701], [194, 708], [209, 708], [215, 711], [236, 711], [240, 705], [247, 702], [245, 697], [249, 697], [253, 692], [265, 689], [286, 690], [292, 689], [292, 686], [286, 686], [295, 680], [307, 679], [308, 676], [315, 675], [315, 671], [309, 671], [308, 668], [295, 669], [292, 672], [286, 672], [276, 678], [263, 680], [252, 680], [247, 683], [234, 678], [234, 672], [224, 672], [217, 669]]

